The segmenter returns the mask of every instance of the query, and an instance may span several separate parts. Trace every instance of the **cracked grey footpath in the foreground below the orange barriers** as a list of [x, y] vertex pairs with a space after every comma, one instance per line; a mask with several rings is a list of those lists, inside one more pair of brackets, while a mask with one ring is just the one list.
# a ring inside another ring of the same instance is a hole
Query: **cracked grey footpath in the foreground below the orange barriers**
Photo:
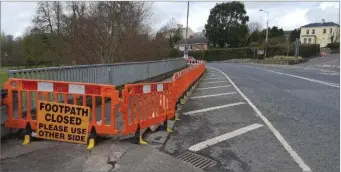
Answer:
[[[173, 129], [174, 121], [168, 126]], [[169, 134], [161, 129], [148, 131], [143, 137], [147, 145], [135, 144], [129, 137], [101, 137], [90, 151], [84, 144], [36, 139], [23, 146], [22, 140], [8, 138], [1, 142], [1, 171], [202, 171], [161, 151]]]

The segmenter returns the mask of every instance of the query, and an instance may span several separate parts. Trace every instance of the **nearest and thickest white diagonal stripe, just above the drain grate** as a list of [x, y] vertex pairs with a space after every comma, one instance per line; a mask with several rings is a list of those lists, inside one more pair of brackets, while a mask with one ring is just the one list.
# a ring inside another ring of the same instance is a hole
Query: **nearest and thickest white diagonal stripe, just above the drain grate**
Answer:
[[195, 144], [195, 145], [189, 147], [189, 150], [197, 152], [197, 151], [199, 151], [201, 149], [204, 149], [204, 148], [207, 148], [209, 146], [215, 145], [217, 143], [220, 143], [222, 141], [228, 140], [230, 138], [242, 135], [242, 134], [244, 134], [246, 132], [255, 130], [255, 129], [257, 129], [259, 127], [262, 127], [262, 126], [263, 126], [262, 124], [257, 124], [257, 123], [256, 124], [252, 124], [252, 125], [240, 128], [238, 130], [234, 130], [232, 132], [229, 132], [229, 133], [226, 133], [226, 134], [214, 137], [212, 139], [208, 139], [206, 141], [200, 142], [198, 144]]

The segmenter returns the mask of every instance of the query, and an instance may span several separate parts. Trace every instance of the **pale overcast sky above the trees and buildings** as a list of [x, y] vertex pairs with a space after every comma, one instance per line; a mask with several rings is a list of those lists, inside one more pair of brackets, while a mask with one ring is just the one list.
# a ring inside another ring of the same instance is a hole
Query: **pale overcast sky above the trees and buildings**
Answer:
[[[188, 26], [199, 32], [204, 29], [210, 9], [217, 2], [190, 2]], [[302, 25], [320, 22], [321, 19], [339, 24], [339, 2], [244, 2], [250, 21], [257, 21], [266, 27], [266, 13], [269, 12], [269, 26], [292, 30]], [[21, 36], [31, 25], [36, 2], [1, 2], [1, 30], [14, 37]], [[150, 24], [158, 30], [171, 18], [186, 25], [187, 2], [154, 2], [151, 8]]]

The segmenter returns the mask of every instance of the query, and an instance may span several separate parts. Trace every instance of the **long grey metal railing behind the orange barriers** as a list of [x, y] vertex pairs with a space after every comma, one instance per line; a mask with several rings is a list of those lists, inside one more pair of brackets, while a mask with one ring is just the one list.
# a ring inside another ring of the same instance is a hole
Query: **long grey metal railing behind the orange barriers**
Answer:
[[124, 85], [186, 66], [183, 58], [113, 64], [9, 70], [9, 78]]

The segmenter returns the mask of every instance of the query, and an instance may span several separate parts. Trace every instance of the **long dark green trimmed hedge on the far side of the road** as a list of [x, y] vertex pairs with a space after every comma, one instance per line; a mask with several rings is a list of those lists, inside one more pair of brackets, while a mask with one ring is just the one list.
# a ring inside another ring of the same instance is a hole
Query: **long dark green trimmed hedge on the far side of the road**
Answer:
[[[224, 48], [224, 49], [209, 49], [204, 51], [189, 51], [188, 55], [196, 59], [203, 59], [205, 61], [221, 61], [229, 59], [254, 59], [257, 58], [256, 50], [260, 48], [243, 47], [243, 48]], [[290, 46], [289, 56], [294, 55], [294, 46]], [[288, 47], [285, 45], [270, 45], [267, 49], [267, 57], [274, 57], [278, 55], [286, 56]], [[300, 46], [299, 56], [308, 58], [316, 56], [320, 53], [319, 44], [302, 44]], [[264, 58], [259, 56], [258, 58]]]

